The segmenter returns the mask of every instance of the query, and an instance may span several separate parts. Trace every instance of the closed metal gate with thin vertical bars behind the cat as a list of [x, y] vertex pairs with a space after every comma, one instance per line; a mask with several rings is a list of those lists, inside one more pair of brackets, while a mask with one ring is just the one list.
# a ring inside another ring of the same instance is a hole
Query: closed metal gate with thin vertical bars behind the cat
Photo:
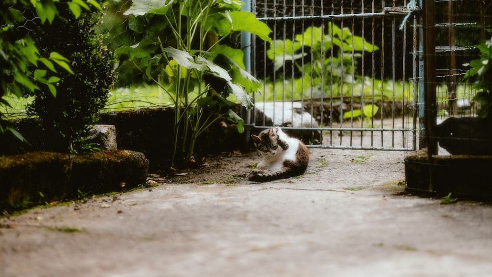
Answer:
[[413, 3], [253, 0], [251, 11], [273, 30], [272, 43], [251, 41], [251, 71], [263, 81], [254, 130], [279, 125], [313, 148], [415, 150]]

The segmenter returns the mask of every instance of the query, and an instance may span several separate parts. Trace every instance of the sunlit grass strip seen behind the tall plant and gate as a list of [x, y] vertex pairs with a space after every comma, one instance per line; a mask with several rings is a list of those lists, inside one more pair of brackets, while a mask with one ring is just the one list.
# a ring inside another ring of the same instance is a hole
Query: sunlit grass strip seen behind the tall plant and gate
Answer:
[[[393, 89], [394, 87], [394, 89]], [[354, 100], [364, 97], [366, 100], [371, 99], [374, 94], [374, 99], [412, 99], [412, 85], [409, 82], [396, 82], [393, 86], [393, 81], [371, 80], [365, 77], [364, 80], [352, 84], [344, 83], [336, 84], [332, 87], [323, 88], [324, 99], [332, 97], [354, 97]], [[332, 93], [329, 93], [332, 92]], [[191, 92], [190, 98], [194, 98], [195, 92]], [[381, 96], [382, 95], [382, 96]], [[263, 81], [261, 92], [255, 94], [256, 101], [273, 101], [290, 100], [290, 99], [308, 99], [318, 98], [321, 96], [320, 86], [311, 86], [310, 82], [303, 82], [301, 79], [294, 80], [278, 80], [275, 83]], [[0, 105], [0, 112], [5, 115], [5, 118], [22, 118], [26, 117], [26, 107], [33, 101], [33, 97], [17, 98], [15, 96], [5, 98], [12, 107]], [[236, 101], [234, 95], [229, 96], [228, 100]], [[138, 84], [125, 88], [113, 88], [109, 91], [109, 98], [105, 108], [101, 112], [110, 112], [118, 110], [149, 108], [149, 107], [169, 107], [173, 106], [171, 97], [161, 88], [156, 85]]]

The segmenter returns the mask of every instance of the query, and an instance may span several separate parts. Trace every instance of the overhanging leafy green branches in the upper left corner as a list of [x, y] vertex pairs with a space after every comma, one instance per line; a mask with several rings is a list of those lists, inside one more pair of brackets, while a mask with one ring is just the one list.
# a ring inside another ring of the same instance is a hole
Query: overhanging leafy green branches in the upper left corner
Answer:
[[[25, 93], [34, 93], [47, 89], [56, 94], [59, 80], [57, 67], [71, 72], [67, 60], [56, 51], [40, 54], [32, 34], [35, 22], [52, 23], [60, 17], [56, 2], [60, 0], [6, 0], [0, 3], [0, 105], [10, 106], [9, 97], [22, 97]], [[61, 2], [60, 2], [61, 3]], [[99, 7], [95, 0], [63, 1], [76, 18], [81, 10], [90, 6]], [[0, 112], [0, 119], [3, 114]], [[11, 126], [0, 122], [0, 133], [10, 131], [24, 140], [22, 135]]]

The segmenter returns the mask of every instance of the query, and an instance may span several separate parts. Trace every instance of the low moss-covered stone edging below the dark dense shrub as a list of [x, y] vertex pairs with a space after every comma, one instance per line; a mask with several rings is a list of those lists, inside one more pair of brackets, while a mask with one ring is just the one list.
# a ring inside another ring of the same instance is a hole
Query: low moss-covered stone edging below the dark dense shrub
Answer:
[[[0, 209], [17, 210], [144, 184], [149, 161], [138, 152], [35, 152], [0, 157]], [[124, 184], [123, 184], [124, 183]]]

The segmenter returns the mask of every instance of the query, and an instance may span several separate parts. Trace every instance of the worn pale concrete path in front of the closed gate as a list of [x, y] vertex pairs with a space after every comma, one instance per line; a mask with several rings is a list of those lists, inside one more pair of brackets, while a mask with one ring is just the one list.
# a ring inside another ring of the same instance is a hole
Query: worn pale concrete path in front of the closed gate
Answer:
[[407, 153], [310, 151], [300, 178], [251, 183], [258, 157], [223, 155], [0, 218], [0, 276], [492, 276], [491, 205], [402, 195]]

